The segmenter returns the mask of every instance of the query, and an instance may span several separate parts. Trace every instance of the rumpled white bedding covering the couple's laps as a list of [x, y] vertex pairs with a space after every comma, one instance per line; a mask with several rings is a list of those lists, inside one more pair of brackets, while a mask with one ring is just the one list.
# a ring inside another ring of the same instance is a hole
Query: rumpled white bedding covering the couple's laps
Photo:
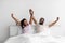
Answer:
[[65, 43], [65, 37], [37, 34], [21, 34], [9, 38], [4, 43]]

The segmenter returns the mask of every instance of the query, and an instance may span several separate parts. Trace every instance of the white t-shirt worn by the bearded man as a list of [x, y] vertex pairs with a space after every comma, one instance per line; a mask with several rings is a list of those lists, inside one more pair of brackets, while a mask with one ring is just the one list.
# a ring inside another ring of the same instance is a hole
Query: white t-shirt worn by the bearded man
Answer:
[[50, 34], [50, 29], [48, 26], [37, 25], [37, 33]]

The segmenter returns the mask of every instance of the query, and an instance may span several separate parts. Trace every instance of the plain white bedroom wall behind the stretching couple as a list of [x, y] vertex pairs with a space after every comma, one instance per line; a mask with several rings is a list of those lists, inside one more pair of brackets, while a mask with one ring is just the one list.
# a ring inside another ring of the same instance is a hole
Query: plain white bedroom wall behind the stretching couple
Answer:
[[25, 17], [29, 20], [29, 9], [35, 11], [37, 19], [44, 17], [46, 25], [58, 16], [60, 22], [55, 26], [61, 28], [56, 32], [65, 35], [65, 0], [0, 0], [0, 43], [9, 38], [9, 26], [15, 25], [10, 14], [14, 13], [18, 19]]

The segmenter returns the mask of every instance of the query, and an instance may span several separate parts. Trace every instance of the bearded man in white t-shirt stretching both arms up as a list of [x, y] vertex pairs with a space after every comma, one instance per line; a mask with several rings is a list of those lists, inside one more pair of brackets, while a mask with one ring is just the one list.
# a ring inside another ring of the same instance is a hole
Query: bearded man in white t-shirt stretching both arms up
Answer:
[[[31, 10], [31, 11], [32, 11], [32, 10]], [[38, 22], [35, 19], [35, 17], [34, 17], [34, 11], [32, 11], [32, 20], [34, 20], [34, 23], [35, 23], [35, 25], [36, 25], [36, 27], [37, 27], [37, 32], [49, 31], [48, 28], [54, 26], [54, 25], [58, 22], [58, 19], [60, 19], [60, 17], [56, 17], [56, 20], [52, 22], [51, 24], [49, 24], [49, 25], [44, 28], [44, 26], [43, 26], [43, 24], [44, 24], [44, 18], [41, 17], [41, 18], [39, 19], [39, 23], [38, 23]]]

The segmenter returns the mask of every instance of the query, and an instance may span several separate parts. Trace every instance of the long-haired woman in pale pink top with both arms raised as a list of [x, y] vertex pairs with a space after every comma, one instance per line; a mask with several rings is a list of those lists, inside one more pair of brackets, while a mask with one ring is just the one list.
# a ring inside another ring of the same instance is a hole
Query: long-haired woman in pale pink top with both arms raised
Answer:
[[18, 20], [17, 18], [15, 18], [13, 16], [13, 13], [11, 14], [11, 17], [15, 20], [16, 25], [22, 27], [23, 33], [32, 33], [31, 30], [31, 25], [32, 25], [32, 11], [31, 9], [29, 9], [29, 13], [30, 13], [30, 20], [29, 24], [27, 22], [26, 18], [23, 18], [22, 20]]

